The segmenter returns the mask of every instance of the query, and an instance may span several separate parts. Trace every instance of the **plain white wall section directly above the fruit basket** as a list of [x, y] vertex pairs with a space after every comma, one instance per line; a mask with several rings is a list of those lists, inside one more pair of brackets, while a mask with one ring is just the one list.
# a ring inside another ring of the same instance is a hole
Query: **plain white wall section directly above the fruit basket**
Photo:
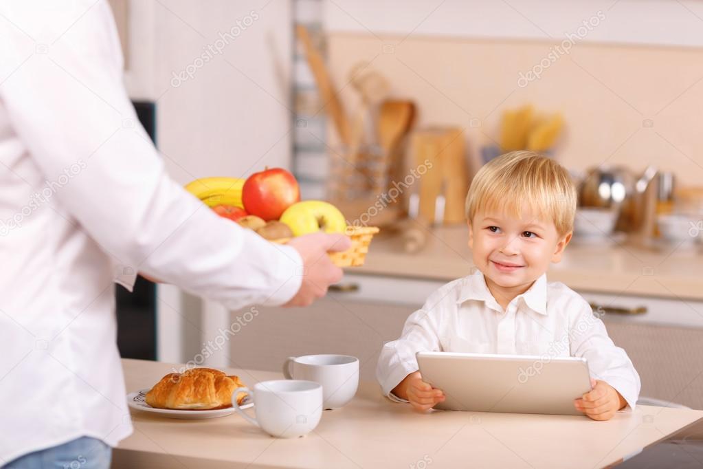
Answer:
[[290, 166], [290, 2], [131, 0], [128, 12], [125, 83], [157, 101], [176, 180]]

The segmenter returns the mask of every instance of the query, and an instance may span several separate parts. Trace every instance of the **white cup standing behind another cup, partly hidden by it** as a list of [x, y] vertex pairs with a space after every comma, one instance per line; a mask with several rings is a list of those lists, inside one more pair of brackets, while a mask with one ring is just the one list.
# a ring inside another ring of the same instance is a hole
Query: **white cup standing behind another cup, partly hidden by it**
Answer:
[[[292, 365], [292, 371], [291, 371]], [[289, 356], [283, 375], [322, 385], [323, 407], [338, 409], [351, 401], [359, 387], [359, 359], [350, 355]]]

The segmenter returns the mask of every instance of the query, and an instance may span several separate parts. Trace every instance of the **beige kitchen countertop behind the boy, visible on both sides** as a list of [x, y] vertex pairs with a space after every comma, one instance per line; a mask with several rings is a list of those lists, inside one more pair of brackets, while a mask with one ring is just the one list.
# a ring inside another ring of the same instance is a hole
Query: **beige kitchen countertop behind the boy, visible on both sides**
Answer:
[[[347, 271], [453, 280], [466, 276], [473, 266], [467, 239], [466, 226], [433, 229], [423, 250], [408, 254], [399, 236], [382, 231], [373, 238], [365, 264]], [[683, 245], [645, 249], [573, 240], [562, 262], [550, 267], [548, 278], [579, 291], [703, 300], [703, 255], [700, 248]]]

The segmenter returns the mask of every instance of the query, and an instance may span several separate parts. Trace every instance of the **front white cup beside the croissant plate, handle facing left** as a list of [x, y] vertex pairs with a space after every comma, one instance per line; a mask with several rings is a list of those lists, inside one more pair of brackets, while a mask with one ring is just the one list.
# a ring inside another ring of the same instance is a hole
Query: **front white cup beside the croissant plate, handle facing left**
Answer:
[[[249, 393], [254, 401], [256, 418], [250, 417], [237, 404], [237, 394]], [[278, 438], [295, 438], [315, 429], [322, 416], [322, 386], [303, 380], [262, 381], [238, 387], [232, 394], [232, 406], [246, 420]]]

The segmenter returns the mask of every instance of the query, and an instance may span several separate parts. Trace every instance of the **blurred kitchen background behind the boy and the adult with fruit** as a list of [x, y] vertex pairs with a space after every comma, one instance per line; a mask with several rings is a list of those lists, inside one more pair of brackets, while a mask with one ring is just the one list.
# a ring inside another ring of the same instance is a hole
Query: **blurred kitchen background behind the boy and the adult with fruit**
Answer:
[[[120, 293], [124, 356], [276, 369], [378, 350], [472, 267], [463, 200], [508, 150], [579, 188], [550, 270], [592, 304], [643, 397], [703, 408], [703, 3], [111, 0], [124, 82], [179, 182], [285, 167], [302, 197], [380, 226], [363, 267], [292, 311]], [[240, 321], [241, 325], [241, 321]]]

